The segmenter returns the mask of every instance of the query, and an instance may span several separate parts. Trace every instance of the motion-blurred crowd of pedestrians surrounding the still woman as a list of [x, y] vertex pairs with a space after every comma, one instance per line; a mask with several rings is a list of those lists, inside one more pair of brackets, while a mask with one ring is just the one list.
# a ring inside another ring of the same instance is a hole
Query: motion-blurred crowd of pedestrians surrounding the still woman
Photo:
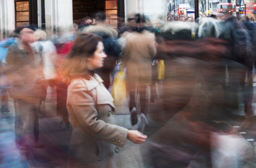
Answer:
[[[168, 22], [153, 23], [136, 14], [119, 29], [105, 20], [104, 13], [97, 13], [57, 37], [28, 25], [0, 42], [1, 114], [9, 113], [12, 99], [20, 150], [46, 145], [39, 140], [38, 121], [49, 86], [56, 87], [56, 112], [62, 116], [62, 128], [72, 129], [62, 65], [75, 52], [76, 37], [86, 33], [102, 38], [107, 57], [93, 75], [101, 77], [106, 89], [114, 89], [119, 70], [126, 74], [131, 125], [136, 126], [138, 116], [141, 118], [141, 132], [148, 137], [144, 142], [149, 156], [146, 162], [152, 167], [256, 167], [255, 148], [231, 122], [232, 110], [244, 104], [240, 127], [254, 128], [255, 124], [255, 18], [212, 15], [194, 22], [168, 17]], [[153, 112], [158, 123], [154, 128], [147, 113], [150, 103], [163, 109]], [[108, 150], [106, 147], [105, 152]], [[106, 167], [116, 167], [112, 162]]]

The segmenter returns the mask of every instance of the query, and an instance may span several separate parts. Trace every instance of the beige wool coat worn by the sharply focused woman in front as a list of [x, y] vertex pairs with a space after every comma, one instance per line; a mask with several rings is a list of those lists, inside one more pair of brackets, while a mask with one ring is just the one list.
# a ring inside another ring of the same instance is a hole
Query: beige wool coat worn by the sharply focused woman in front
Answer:
[[121, 168], [119, 151], [128, 129], [116, 125], [113, 98], [103, 80], [97, 74], [73, 79], [67, 108], [73, 127], [68, 167]]

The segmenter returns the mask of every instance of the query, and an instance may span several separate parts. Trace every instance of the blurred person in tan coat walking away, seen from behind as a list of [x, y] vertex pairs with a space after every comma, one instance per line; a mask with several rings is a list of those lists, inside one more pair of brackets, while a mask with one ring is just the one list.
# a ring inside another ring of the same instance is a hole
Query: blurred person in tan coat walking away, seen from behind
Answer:
[[135, 91], [139, 93], [142, 123], [147, 123], [146, 116], [146, 89], [151, 84], [152, 66], [151, 58], [156, 55], [155, 36], [145, 30], [145, 18], [136, 14], [137, 27], [134, 32], [124, 33], [125, 47], [123, 48], [123, 63], [126, 69], [127, 90], [130, 94], [129, 109], [131, 111], [131, 124], [138, 122]]

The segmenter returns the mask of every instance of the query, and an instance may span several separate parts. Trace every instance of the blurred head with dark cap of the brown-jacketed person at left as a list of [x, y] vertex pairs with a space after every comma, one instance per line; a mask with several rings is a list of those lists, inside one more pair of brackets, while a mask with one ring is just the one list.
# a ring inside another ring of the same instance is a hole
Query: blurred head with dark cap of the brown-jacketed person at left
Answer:
[[36, 31], [36, 28], [32, 25], [22, 27], [20, 29], [20, 40], [26, 44], [33, 43], [35, 31]]

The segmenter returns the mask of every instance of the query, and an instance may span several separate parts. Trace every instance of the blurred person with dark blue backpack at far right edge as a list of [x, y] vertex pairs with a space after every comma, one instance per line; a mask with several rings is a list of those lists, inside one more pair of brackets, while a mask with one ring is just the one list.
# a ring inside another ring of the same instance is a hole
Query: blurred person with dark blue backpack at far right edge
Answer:
[[[233, 45], [232, 60], [241, 64], [232, 67], [228, 65], [230, 72], [230, 81], [232, 86], [232, 106], [233, 108], [238, 107], [237, 94], [239, 90], [243, 91], [244, 96], [244, 113], [246, 115], [245, 122], [241, 127], [251, 128], [255, 122], [252, 116], [252, 99], [253, 99], [253, 64], [255, 64], [255, 51], [256, 51], [256, 26], [249, 22], [248, 19], [245, 21], [236, 20], [233, 16], [229, 16], [226, 19], [226, 25], [230, 29], [230, 42]], [[239, 72], [238, 72], [239, 71]], [[245, 79], [247, 83], [245, 83]]]

